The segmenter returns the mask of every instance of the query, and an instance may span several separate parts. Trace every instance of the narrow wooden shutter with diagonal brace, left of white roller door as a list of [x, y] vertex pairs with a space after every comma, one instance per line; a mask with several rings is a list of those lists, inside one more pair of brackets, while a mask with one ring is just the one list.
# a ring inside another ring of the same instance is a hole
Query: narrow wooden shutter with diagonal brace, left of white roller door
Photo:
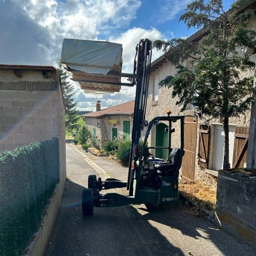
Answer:
[[199, 125], [198, 164], [207, 168], [209, 163], [210, 125]]

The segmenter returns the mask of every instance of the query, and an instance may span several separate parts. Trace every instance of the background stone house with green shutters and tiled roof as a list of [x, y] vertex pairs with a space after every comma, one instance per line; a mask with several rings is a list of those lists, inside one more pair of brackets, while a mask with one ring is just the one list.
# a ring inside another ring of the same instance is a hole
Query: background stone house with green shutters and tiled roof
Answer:
[[115, 138], [131, 139], [133, 124], [134, 100], [106, 109], [100, 109], [97, 102], [97, 111], [83, 115], [84, 123], [90, 129], [91, 136], [102, 148], [107, 141]]

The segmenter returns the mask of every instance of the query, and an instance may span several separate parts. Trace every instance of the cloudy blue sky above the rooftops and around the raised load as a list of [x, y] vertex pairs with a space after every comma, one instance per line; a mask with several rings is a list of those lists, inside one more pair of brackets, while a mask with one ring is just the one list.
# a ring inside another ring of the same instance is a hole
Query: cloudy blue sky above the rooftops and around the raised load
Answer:
[[[0, 63], [56, 66], [63, 38], [123, 45], [123, 72], [132, 72], [141, 38], [188, 37], [180, 15], [192, 0], [0, 0]], [[225, 9], [234, 0], [223, 0]], [[153, 60], [163, 52], [153, 50]], [[77, 108], [95, 111], [133, 100], [135, 89], [122, 86], [108, 95], [85, 94], [74, 84]]]

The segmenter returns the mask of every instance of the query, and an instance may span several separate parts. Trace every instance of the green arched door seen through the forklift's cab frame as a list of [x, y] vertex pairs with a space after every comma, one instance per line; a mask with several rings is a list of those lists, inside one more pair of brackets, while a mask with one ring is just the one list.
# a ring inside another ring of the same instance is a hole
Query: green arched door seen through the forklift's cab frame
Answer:
[[[168, 132], [165, 131], [168, 128], [166, 124], [160, 123], [156, 126], [156, 147], [168, 147]], [[158, 148], [156, 149], [156, 157], [167, 159], [168, 149]]]

